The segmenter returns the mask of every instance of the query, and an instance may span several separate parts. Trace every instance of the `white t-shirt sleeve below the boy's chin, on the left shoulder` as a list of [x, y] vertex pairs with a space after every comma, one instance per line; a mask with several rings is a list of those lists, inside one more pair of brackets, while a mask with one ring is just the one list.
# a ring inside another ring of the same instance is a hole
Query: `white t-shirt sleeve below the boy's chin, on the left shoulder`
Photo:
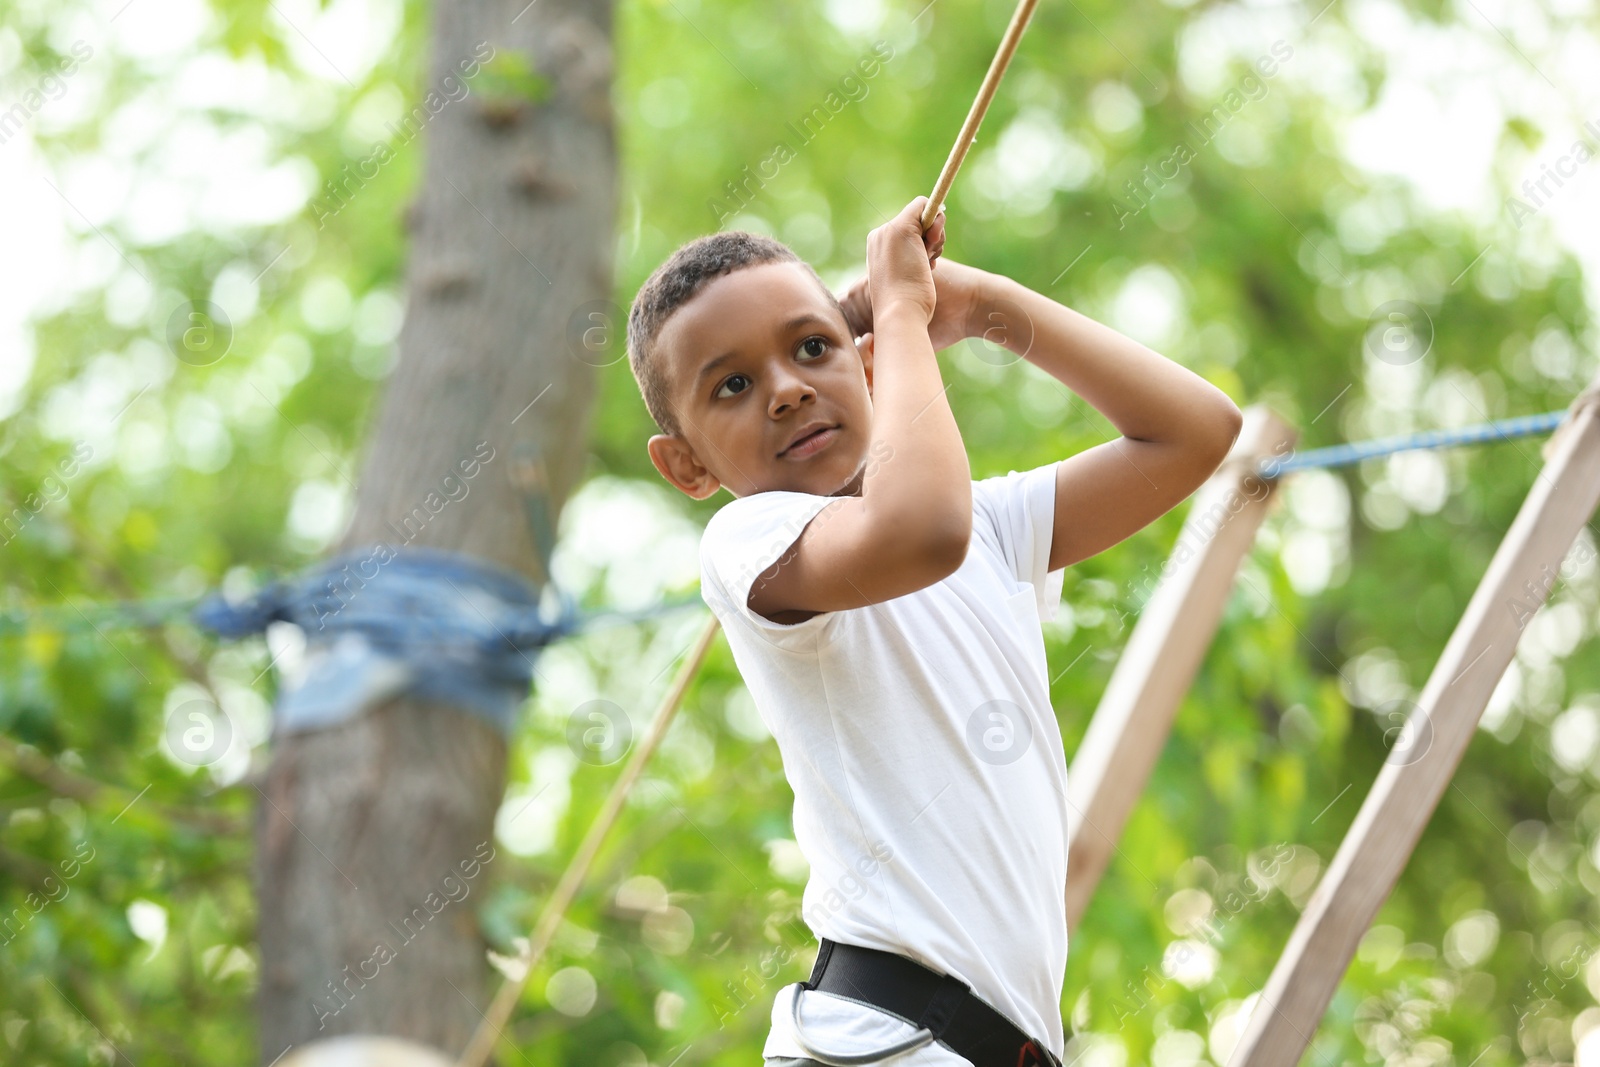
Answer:
[[805, 622], [773, 622], [750, 609], [750, 587], [794, 545], [806, 525], [838, 498], [773, 490], [741, 496], [706, 523], [701, 536], [701, 598], [722, 619], [738, 619], [766, 637], [800, 633], [832, 613]]

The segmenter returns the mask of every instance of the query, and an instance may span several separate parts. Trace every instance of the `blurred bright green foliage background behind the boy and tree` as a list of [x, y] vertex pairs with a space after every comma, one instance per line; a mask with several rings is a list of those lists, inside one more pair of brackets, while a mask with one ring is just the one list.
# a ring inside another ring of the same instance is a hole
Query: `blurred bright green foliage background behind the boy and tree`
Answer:
[[[1010, 8], [621, 0], [616, 304], [720, 226], [781, 237], [838, 288], [859, 277], [867, 230], [931, 189]], [[0, 1061], [246, 1062], [248, 784], [294, 638], [219, 643], [91, 605], [248, 590], [344, 530], [427, 133], [331, 218], [317, 203], [427, 91], [432, 8], [0, 10], [0, 913], [51, 873], [66, 889], [0, 944]], [[875, 48], [891, 58], [797, 146], [786, 123]], [[1594, 0], [1045, 0], [954, 189], [947, 254], [1270, 405], [1307, 446], [1558, 410], [1597, 370], [1597, 70]], [[517, 70], [496, 77], [517, 91]], [[1218, 107], [1202, 142], [1190, 123]], [[773, 168], [781, 139], [797, 150]], [[733, 203], [725, 182], [763, 165]], [[1146, 166], [1147, 206], [1126, 186]], [[230, 328], [206, 366], [168, 342], [200, 299]], [[1114, 435], [1026, 362], [941, 362], [978, 477]], [[626, 360], [595, 381], [555, 576], [594, 608], [691, 595], [725, 498], [653, 472]], [[1525, 440], [1285, 485], [1072, 939], [1069, 1059], [1226, 1062], [1387, 755], [1384, 709], [1419, 691], [1539, 462]], [[1069, 758], [1184, 510], [1067, 571], [1046, 646]], [[1306, 1062], [1600, 1065], [1592, 526], [1571, 558]], [[472, 897], [494, 953], [616, 774], [568, 745], [573, 709], [611, 701], [637, 734], [699, 625], [667, 614], [539, 661]], [[163, 742], [197, 694], [234, 729], [200, 768]], [[806, 974], [792, 797], [723, 645], [648, 779], [507, 1032], [525, 1062], [758, 1062], [771, 997]], [[1208, 913], [1227, 915], [1216, 936]]]

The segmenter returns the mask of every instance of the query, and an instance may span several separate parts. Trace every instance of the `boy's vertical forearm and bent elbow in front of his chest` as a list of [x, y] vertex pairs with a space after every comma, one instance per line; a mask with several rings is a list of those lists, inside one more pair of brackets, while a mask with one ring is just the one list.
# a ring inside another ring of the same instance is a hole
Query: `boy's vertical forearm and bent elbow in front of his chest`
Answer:
[[750, 589], [754, 611], [794, 622], [915, 592], [954, 573], [971, 537], [971, 467], [928, 339], [936, 293], [912, 200], [867, 238], [872, 434], [861, 496], [806, 525]]

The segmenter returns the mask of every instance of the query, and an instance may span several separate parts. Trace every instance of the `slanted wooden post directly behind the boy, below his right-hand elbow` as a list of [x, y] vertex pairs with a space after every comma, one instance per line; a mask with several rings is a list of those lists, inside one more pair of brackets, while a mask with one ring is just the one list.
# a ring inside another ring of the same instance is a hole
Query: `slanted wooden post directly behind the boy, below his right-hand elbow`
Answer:
[[1067, 776], [1069, 929], [1106, 873], [1267, 514], [1275, 483], [1256, 475], [1256, 464], [1285, 454], [1294, 440], [1294, 429], [1267, 408], [1245, 411], [1234, 451], [1195, 494], [1160, 585], [1117, 661]]

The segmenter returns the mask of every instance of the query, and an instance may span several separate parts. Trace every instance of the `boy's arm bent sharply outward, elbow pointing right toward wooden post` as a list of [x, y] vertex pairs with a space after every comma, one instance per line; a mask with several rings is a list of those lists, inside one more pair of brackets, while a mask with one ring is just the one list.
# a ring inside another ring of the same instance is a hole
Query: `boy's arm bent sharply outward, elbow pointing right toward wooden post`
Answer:
[[1110, 326], [987, 274], [976, 298], [1006, 322], [1005, 346], [1110, 419], [1122, 437], [1056, 467], [1050, 569], [1085, 560], [1160, 518], [1205, 482], [1238, 437], [1242, 416], [1216, 386]]

